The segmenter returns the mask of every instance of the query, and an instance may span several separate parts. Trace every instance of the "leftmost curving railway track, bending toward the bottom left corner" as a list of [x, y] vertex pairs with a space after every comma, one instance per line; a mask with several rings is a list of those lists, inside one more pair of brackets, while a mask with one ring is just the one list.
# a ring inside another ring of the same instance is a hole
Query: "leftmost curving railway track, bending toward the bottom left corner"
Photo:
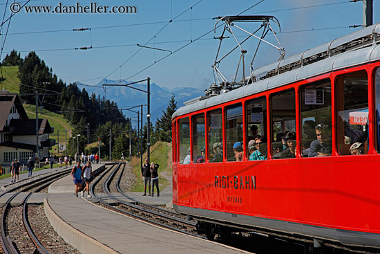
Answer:
[[[21, 205], [23, 207], [22, 209], [22, 221], [23, 226], [25, 227], [26, 232], [28, 233], [29, 240], [32, 242], [32, 246], [29, 246], [30, 250], [32, 250], [32, 253], [38, 254], [47, 254], [49, 253], [46, 248], [39, 242], [35, 234], [33, 233], [32, 228], [30, 227], [29, 221], [28, 221], [28, 199], [30, 196], [35, 193], [43, 190], [48, 185], [53, 183], [54, 181], [57, 181], [57, 179], [60, 179], [63, 176], [66, 176], [69, 174], [70, 170], [61, 170], [59, 172], [55, 172], [53, 174], [49, 174], [46, 177], [32, 180], [28, 183], [23, 183], [21, 185], [16, 186], [15, 188], [11, 188], [10, 190], [7, 190], [6, 192], [3, 192], [0, 194], [0, 197], [3, 197], [4, 195], [15, 192], [15, 194], [12, 195], [7, 201], [5, 206], [3, 207], [2, 214], [1, 214], [1, 248], [3, 253], [6, 254], [13, 254], [13, 253], [19, 253], [19, 250], [17, 248], [17, 242], [12, 241], [12, 235], [16, 234], [14, 231], [15, 228], [8, 227], [8, 215], [11, 209], [10, 203], [12, 202], [15, 197], [17, 197], [21, 192], [26, 192], [28, 190], [32, 190], [22, 201]], [[17, 228], [16, 230], [19, 230], [20, 228]], [[22, 241], [25, 241], [24, 239], [21, 239]]]

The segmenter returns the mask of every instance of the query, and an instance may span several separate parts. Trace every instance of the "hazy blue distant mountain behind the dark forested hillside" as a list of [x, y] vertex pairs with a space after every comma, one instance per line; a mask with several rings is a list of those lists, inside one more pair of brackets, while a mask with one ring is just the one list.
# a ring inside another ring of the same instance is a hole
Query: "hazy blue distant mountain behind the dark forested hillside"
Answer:
[[[104, 96], [104, 89], [100, 88], [102, 84], [130, 84], [133, 81], [125, 81], [125, 80], [106, 80], [103, 79], [95, 86], [97, 87], [86, 87], [86, 91], [89, 94], [95, 93], [99, 95], [101, 98]], [[77, 82], [79, 88], [80, 82]], [[98, 88], [99, 87], [99, 88]], [[133, 88], [135, 89], [133, 89]], [[146, 91], [146, 83], [145, 84], [131, 84], [129, 87], [106, 87], [106, 99], [113, 100], [117, 103], [118, 107], [128, 107], [135, 105], [145, 105], [146, 104], [146, 93], [142, 91], [138, 91], [136, 89]], [[162, 111], [167, 109], [169, 100], [171, 95], [174, 94], [175, 101], [177, 102], [177, 107], [182, 107], [183, 102], [187, 100], [191, 100], [198, 96], [202, 96], [205, 94], [205, 91], [202, 89], [196, 89], [192, 87], [176, 87], [174, 89], [167, 89], [166, 87], [160, 87], [158, 84], [151, 84], [151, 121], [154, 124], [157, 118], [160, 118], [162, 115]], [[137, 111], [138, 109], [134, 109]], [[127, 111], [123, 111], [123, 113], [130, 117], [133, 113], [127, 113]], [[144, 115], [146, 115], [146, 107], [144, 107]], [[145, 122], [144, 122], [145, 123]]]

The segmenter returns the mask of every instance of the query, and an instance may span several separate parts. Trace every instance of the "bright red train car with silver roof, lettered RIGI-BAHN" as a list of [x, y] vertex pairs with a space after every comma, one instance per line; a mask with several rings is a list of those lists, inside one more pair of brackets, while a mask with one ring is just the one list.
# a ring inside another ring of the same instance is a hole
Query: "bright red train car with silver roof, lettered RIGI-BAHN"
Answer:
[[247, 230], [378, 252], [379, 42], [374, 24], [175, 111], [175, 210], [210, 238]]

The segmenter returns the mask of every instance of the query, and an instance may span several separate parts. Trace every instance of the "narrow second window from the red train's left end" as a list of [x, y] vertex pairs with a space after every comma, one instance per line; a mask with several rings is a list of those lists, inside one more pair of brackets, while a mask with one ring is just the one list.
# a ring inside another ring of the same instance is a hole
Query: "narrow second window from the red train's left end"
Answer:
[[[198, 136], [198, 118], [203, 120], [203, 137]], [[191, 136], [192, 136], [192, 155], [191, 155], [191, 161], [193, 163], [205, 163], [206, 161], [206, 118], [205, 114], [197, 114], [194, 116], [191, 116]], [[197, 131], [197, 132], [194, 132]], [[199, 145], [199, 140], [202, 140], [202, 144]], [[202, 153], [203, 152], [203, 153]]]

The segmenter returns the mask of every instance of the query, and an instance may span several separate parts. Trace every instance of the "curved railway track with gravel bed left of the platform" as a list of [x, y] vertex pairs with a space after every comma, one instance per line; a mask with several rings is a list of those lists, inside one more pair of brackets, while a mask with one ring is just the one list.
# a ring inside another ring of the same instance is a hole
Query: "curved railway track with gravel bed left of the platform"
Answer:
[[[63, 176], [66, 176], [70, 173], [69, 170], [61, 170], [53, 174], [49, 174], [46, 177], [32, 180], [28, 183], [23, 183], [21, 185], [15, 186], [6, 192], [0, 194], [0, 197], [4, 195], [15, 192], [12, 196], [6, 201], [5, 206], [1, 212], [1, 248], [3, 253], [13, 254], [13, 253], [49, 253], [46, 248], [41, 244], [39, 239], [35, 236], [29, 220], [28, 220], [28, 199], [35, 192], [39, 192], [44, 188], [48, 187], [57, 179], [60, 179]], [[23, 199], [21, 206], [12, 207], [11, 202], [15, 197], [17, 197], [21, 192], [30, 191], [30, 193]], [[21, 208], [22, 207], [22, 208]], [[12, 219], [22, 218], [23, 226], [11, 226], [10, 221]], [[24, 230], [23, 230], [24, 228]]]

